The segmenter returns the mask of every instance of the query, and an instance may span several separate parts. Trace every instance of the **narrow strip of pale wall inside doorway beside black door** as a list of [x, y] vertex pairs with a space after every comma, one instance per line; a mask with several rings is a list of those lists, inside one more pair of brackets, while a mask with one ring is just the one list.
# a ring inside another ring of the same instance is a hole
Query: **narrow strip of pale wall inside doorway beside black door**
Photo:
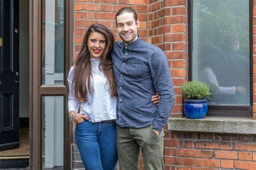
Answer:
[[29, 0], [19, 1], [19, 117], [29, 117]]

